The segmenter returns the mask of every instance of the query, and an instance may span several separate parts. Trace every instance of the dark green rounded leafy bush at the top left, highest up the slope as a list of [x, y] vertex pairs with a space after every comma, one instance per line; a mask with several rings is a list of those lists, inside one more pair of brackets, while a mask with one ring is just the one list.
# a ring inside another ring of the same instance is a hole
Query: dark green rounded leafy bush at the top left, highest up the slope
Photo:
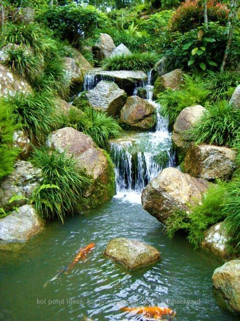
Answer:
[[74, 2], [65, 6], [44, 7], [38, 20], [52, 29], [55, 36], [68, 40], [76, 48], [82, 46], [83, 39], [92, 37], [98, 28], [108, 24], [107, 16], [95, 7]]

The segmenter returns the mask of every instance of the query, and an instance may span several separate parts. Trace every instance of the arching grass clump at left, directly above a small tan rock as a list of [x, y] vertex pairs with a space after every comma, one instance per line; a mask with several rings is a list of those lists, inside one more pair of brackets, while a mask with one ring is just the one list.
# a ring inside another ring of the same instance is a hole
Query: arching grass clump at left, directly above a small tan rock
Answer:
[[51, 91], [17, 94], [5, 101], [12, 109], [16, 122], [22, 124], [31, 141], [44, 142], [56, 121], [56, 101]]

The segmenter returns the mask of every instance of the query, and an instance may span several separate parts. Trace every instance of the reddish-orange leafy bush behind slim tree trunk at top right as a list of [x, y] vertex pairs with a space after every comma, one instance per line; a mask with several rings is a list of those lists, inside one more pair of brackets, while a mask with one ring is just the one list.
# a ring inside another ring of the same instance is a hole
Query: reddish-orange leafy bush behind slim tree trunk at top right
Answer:
[[[208, 20], [226, 25], [228, 9], [213, 0], [207, 2]], [[171, 19], [171, 30], [186, 33], [204, 23], [204, 8], [198, 0], [186, 0], [181, 3]]]

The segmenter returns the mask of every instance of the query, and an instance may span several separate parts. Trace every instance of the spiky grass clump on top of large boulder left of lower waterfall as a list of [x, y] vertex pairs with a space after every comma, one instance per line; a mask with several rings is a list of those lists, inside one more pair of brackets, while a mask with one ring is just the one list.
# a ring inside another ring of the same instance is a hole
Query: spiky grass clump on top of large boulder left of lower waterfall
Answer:
[[84, 113], [70, 109], [67, 115], [61, 116], [58, 126], [70, 126], [89, 135], [101, 148], [106, 147], [108, 139], [117, 137], [122, 131], [114, 118], [91, 107], [86, 107]]

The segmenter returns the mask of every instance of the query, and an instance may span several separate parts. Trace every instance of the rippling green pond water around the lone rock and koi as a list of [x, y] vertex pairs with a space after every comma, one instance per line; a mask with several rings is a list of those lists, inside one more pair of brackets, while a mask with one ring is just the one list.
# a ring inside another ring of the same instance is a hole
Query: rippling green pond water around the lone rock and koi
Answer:
[[[64, 226], [50, 222], [20, 253], [0, 251], [0, 319], [142, 319], [119, 311], [119, 303], [167, 305], [181, 321], [236, 320], [219, 308], [212, 292], [213, 271], [223, 263], [208, 252], [194, 251], [182, 235], [168, 240], [162, 229], [141, 204], [114, 198], [98, 210], [69, 218]], [[115, 237], [153, 245], [162, 260], [128, 272], [103, 256]], [[96, 247], [85, 261], [43, 287], [90, 242]]]

